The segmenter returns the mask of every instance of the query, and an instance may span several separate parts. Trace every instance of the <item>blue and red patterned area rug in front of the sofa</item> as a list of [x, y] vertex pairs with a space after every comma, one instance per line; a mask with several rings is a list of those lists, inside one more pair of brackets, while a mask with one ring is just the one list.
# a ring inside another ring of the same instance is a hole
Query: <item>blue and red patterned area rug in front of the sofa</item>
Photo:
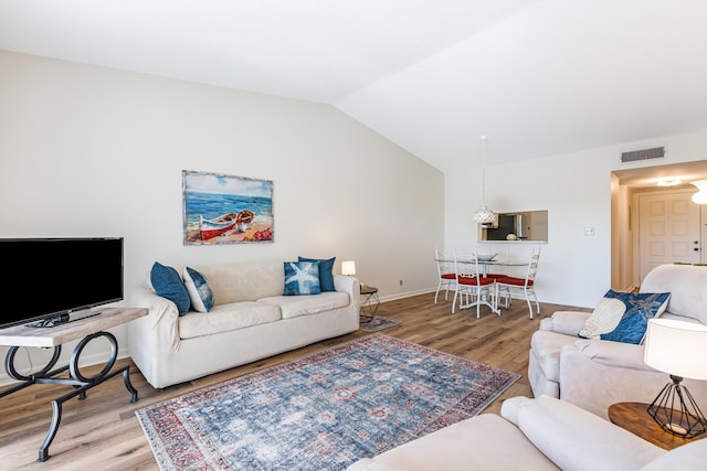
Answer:
[[162, 471], [342, 470], [478, 414], [518, 378], [373, 334], [136, 415]]

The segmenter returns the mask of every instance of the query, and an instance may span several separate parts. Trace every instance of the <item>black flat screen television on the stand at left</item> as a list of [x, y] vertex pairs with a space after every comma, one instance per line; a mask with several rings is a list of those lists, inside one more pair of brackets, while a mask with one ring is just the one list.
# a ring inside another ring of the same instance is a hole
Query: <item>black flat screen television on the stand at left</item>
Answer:
[[123, 300], [123, 237], [0, 238], [0, 329]]

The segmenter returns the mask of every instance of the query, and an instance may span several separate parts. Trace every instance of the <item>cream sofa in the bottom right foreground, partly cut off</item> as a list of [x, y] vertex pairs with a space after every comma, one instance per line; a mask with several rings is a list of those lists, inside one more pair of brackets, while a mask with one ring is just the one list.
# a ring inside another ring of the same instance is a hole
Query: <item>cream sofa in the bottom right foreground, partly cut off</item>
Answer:
[[502, 416], [483, 414], [462, 420], [376, 457], [362, 458], [348, 471], [707, 469], [707, 439], [666, 451], [548, 396], [507, 399]]

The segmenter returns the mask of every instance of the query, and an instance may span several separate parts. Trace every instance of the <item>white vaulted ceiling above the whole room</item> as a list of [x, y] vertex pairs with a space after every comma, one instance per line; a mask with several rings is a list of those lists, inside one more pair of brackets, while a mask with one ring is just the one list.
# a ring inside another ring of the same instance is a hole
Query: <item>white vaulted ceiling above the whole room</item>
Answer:
[[[704, 0], [0, 0], [0, 50], [330, 104], [442, 171], [707, 128]], [[634, 149], [626, 149], [634, 150]]]

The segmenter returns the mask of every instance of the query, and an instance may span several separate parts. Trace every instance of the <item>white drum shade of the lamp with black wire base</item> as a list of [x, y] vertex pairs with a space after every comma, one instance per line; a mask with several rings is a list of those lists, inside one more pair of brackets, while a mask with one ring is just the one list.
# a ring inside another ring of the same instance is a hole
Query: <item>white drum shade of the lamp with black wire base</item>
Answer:
[[645, 338], [646, 365], [674, 376], [707, 379], [707, 327], [651, 319]]

